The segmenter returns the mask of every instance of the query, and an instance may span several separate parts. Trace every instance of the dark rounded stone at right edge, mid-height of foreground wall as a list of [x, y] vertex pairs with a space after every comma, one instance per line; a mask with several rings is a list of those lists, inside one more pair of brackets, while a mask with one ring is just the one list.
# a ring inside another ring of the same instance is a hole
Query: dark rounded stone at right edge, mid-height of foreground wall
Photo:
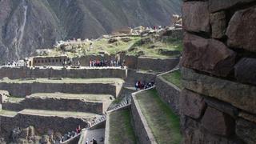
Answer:
[[256, 58], [242, 58], [234, 66], [234, 75], [239, 82], [256, 85]]

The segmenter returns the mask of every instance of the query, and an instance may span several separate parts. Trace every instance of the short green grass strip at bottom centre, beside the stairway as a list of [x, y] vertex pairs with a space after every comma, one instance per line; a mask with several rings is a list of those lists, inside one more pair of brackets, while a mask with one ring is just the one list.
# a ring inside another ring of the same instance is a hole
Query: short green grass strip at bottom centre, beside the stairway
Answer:
[[136, 143], [129, 110], [120, 110], [110, 114], [109, 143]]

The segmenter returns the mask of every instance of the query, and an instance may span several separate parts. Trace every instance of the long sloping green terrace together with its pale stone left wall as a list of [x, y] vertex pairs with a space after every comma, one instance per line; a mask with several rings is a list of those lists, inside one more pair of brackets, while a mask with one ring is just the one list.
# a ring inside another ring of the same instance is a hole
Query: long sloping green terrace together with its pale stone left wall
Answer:
[[[154, 107], [154, 108], [153, 108]], [[179, 118], [155, 89], [133, 95], [132, 114], [140, 143], [180, 143]]]

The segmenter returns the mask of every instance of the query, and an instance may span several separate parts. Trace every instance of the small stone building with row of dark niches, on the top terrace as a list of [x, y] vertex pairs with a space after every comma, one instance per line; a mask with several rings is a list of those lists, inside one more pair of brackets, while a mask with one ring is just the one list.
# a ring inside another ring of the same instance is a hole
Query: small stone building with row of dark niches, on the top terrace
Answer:
[[63, 66], [63, 62], [69, 62], [67, 56], [58, 57], [32, 57], [29, 58], [27, 66]]

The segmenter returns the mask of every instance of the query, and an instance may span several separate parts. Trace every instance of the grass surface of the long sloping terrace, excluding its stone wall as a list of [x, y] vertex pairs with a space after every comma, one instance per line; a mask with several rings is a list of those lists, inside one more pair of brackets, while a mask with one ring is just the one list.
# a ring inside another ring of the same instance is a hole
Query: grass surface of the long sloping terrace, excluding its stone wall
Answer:
[[179, 118], [161, 101], [157, 91], [146, 90], [136, 98], [156, 141], [179, 144], [182, 141]]

